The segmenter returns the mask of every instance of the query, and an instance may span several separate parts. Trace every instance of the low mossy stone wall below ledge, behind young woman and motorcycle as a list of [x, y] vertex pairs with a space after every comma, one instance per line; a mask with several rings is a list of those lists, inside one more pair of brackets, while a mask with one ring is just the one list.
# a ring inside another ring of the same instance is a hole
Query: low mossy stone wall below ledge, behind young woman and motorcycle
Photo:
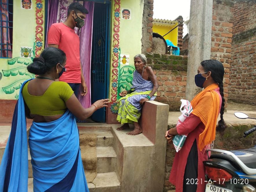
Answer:
[[[220, 134], [216, 134], [216, 139], [214, 141], [214, 148], [216, 149], [224, 149], [224, 150], [237, 150], [237, 149], [248, 149], [254, 145], [256, 142], [256, 133], [253, 133], [246, 138], [243, 138], [243, 132], [250, 129], [253, 125], [238, 125], [233, 124], [232, 126], [229, 124], [228, 128], [226, 128], [224, 135], [220, 136]], [[168, 130], [170, 128], [174, 128], [175, 125], [168, 125]], [[174, 190], [175, 186], [173, 186], [169, 182], [170, 170], [172, 169], [172, 163], [175, 156], [175, 149], [173, 149], [173, 144], [167, 144], [166, 147], [166, 160], [165, 160], [165, 182], [164, 182], [164, 190], [163, 192], [169, 192], [170, 190]]]

